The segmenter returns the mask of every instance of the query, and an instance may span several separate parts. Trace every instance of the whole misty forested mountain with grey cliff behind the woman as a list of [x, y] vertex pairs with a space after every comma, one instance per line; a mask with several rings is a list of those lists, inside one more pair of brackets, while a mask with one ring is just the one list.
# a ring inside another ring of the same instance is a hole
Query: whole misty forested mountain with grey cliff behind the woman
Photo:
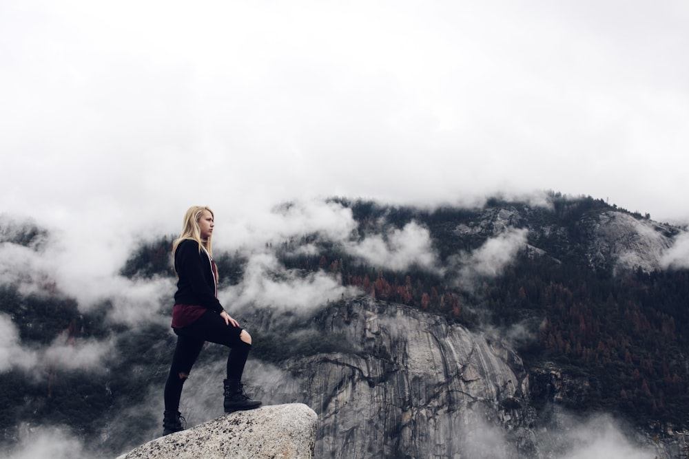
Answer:
[[[557, 193], [476, 209], [328, 205], [351, 220], [346, 232], [311, 228], [260, 253], [216, 253], [220, 290], [241, 303], [254, 337], [249, 388], [265, 403], [316, 411], [316, 456], [559, 457], [569, 446], [546, 432], [594, 415], [612, 416], [659, 455], [686, 448], [686, 228]], [[298, 210], [287, 203], [275, 213]], [[46, 244], [36, 226], [5, 225], [0, 235], [4, 248], [40, 253]], [[171, 241], [141, 244], [120, 276], [163, 282], [172, 295]], [[302, 298], [295, 285], [333, 296]], [[271, 291], [289, 298], [268, 304]], [[11, 320], [0, 325], [16, 330], [10, 348], [24, 361], [36, 355], [27, 349], [56, 343], [108, 345], [96, 367], [0, 367], [6, 445], [46, 424], [112, 456], [159, 435], [169, 306], [136, 326], [103, 321], [119, 301], [85, 310], [55, 286], [1, 284]], [[209, 347], [185, 386], [194, 424], [218, 416], [223, 359]]]

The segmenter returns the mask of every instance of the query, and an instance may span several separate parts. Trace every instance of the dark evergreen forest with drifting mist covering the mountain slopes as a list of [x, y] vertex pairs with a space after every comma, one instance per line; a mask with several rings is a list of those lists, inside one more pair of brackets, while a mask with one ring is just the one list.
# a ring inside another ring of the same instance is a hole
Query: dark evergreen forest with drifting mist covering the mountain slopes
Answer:
[[[658, 431], [666, 425], [689, 427], [689, 271], [620, 273], [613, 266], [591, 266], [584, 250], [590, 237], [582, 225], [587, 217], [612, 210], [639, 220], [648, 215], [557, 193], [547, 206], [494, 198], [481, 209], [330, 202], [351, 211], [356, 226], [349, 237], [314, 231], [267, 242], [265, 253], [276, 264], [262, 275], [278, 284], [294, 278], [313, 284], [324, 276], [334, 279], [338, 288], [332, 292], [339, 292], [327, 301], [370, 295], [489, 332], [508, 341], [527, 367], [554, 364], [585, 378], [588, 392], [581, 403], [568, 406], [576, 412], [610, 412]], [[499, 209], [528, 217], [508, 221], [502, 231], [495, 227], [497, 220], [484, 219]], [[47, 237], [37, 226], [2, 225], [1, 244], [39, 250]], [[681, 232], [668, 228], [670, 235]], [[137, 282], [162, 278], [171, 285], [172, 239], [161, 235], [138, 246], [119, 275]], [[251, 255], [242, 250], [215, 255], [220, 290], [241, 298]], [[6, 406], [0, 411], [2, 441], [17, 441], [20, 425], [45, 424], [68, 426], [90, 447], [114, 452], [145, 440], [142, 432], [157, 418], [133, 416], [130, 425], [107, 424], [145, 403], [150, 387], [163, 387], [174, 345], [172, 305], [167, 306], [133, 326], [104, 320], [113, 310], [107, 299], [80, 309], [50, 279], [40, 291], [0, 284], [0, 330], [17, 330], [0, 354], [0, 400]], [[263, 307], [249, 301], [246, 314], [253, 306]], [[287, 337], [281, 330], [252, 330], [251, 358], [280, 363], [295, 353], [346, 352], [343, 343], [308, 330], [318, 306], [287, 311], [304, 332]], [[101, 343], [108, 343], [107, 349]], [[56, 357], [65, 349], [72, 352], [72, 365]], [[20, 350], [25, 365], [10, 359]], [[548, 402], [547, 394], [533, 399], [539, 409]]]

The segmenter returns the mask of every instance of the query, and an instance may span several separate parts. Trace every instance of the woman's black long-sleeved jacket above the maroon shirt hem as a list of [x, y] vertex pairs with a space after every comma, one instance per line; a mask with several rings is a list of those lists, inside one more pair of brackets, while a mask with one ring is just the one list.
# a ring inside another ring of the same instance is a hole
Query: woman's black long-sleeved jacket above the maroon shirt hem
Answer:
[[223, 306], [215, 296], [215, 275], [211, 261], [205, 250], [198, 250], [198, 242], [185, 239], [179, 243], [174, 253], [174, 267], [179, 279], [175, 304], [196, 304], [223, 312]]

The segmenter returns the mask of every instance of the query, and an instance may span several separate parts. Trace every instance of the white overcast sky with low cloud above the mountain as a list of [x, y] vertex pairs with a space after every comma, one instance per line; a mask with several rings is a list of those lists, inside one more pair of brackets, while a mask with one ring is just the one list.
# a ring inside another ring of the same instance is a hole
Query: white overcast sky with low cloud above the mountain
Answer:
[[687, 220], [688, 23], [685, 0], [2, 0], [0, 213], [90, 242], [192, 204], [551, 189]]

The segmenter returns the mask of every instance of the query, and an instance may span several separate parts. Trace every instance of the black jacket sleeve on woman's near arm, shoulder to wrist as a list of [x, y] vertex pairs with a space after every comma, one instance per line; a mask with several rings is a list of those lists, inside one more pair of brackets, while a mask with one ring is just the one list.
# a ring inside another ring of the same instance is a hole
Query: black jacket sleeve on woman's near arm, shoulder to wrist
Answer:
[[210, 261], [203, 251], [198, 253], [198, 243], [193, 240], [181, 242], [175, 253], [175, 264], [180, 279], [186, 279], [198, 304], [218, 314], [223, 312], [215, 296], [215, 285], [209, 286], [209, 280], [213, 279], [209, 277], [213, 275]]

